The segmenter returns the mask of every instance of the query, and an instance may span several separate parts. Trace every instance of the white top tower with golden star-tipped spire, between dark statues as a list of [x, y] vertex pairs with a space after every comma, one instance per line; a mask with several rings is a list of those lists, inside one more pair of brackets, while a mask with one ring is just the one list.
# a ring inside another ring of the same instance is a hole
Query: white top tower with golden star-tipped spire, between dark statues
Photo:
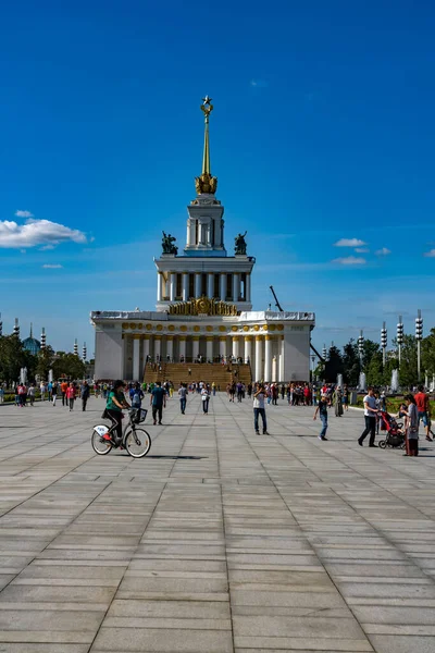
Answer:
[[202, 100], [201, 111], [204, 114], [204, 146], [202, 155], [202, 172], [195, 178], [196, 198], [187, 207], [187, 238], [185, 256], [226, 256], [224, 246], [224, 208], [215, 198], [217, 177], [211, 174], [209, 122], [213, 111], [211, 98]]

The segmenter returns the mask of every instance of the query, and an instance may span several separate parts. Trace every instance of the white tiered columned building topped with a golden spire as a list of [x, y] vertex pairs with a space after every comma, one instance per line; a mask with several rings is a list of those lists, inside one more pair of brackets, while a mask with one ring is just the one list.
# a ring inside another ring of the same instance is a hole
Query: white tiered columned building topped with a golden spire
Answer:
[[235, 237], [234, 256], [225, 249], [224, 207], [210, 168], [209, 97], [201, 109], [202, 173], [187, 207], [186, 246], [178, 255], [175, 238], [163, 232], [162, 254], [154, 259], [156, 310], [91, 312], [96, 379], [141, 380], [148, 360], [233, 357], [249, 362], [256, 380], [308, 381], [314, 313], [252, 310], [256, 259], [247, 255], [246, 234]]

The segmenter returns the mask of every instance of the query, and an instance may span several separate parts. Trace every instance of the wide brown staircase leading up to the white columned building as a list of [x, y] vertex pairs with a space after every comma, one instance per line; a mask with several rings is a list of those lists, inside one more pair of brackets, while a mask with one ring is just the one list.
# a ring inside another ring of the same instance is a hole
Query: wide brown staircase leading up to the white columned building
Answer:
[[203, 381], [210, 385], [214, 382], [221, 391], [224, 391], [233, 381], [241, 381], [245, 385], [252, 383], [252, 373], [249, 364], [162, 362], [159, 366], [148, 362], [145, 367], [144, 381], [145, 383], [172, 381], [175, 387], [181, 383], [188, 384], [194, 381]]

